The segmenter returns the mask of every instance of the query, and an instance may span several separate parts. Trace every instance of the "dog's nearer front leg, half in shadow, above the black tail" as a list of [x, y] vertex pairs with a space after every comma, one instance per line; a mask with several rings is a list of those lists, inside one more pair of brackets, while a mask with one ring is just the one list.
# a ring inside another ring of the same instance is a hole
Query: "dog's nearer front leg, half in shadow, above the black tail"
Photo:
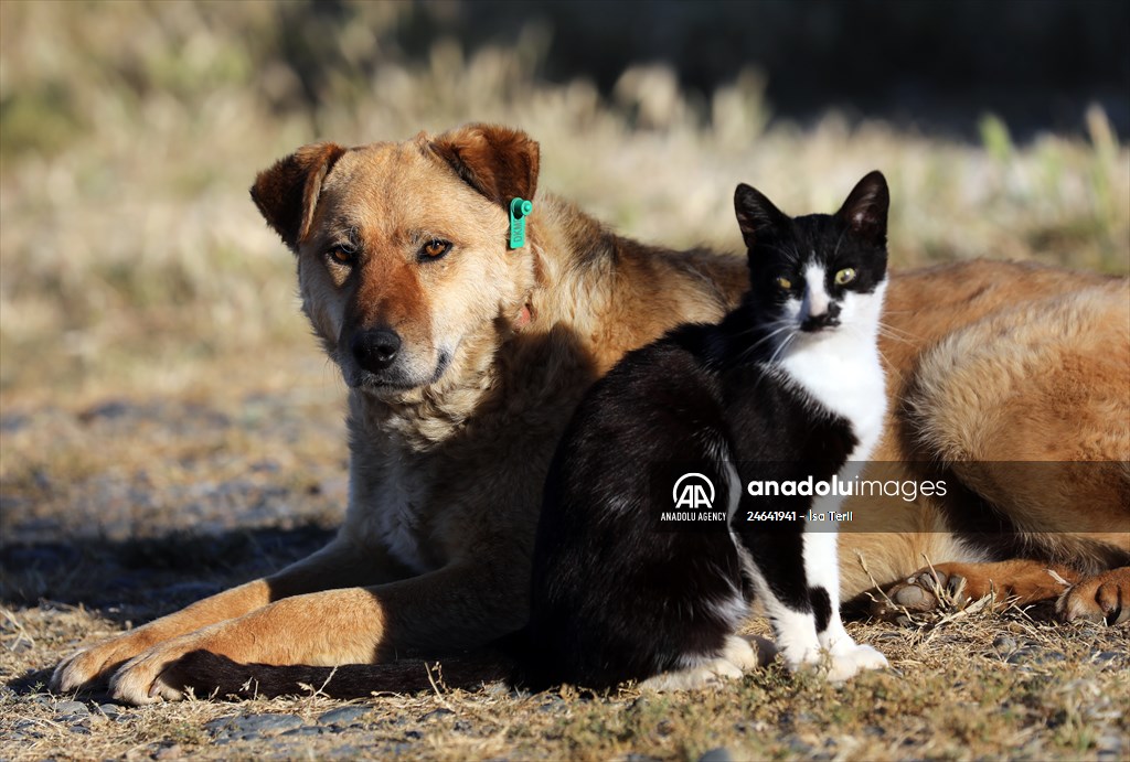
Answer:
[[136, 704], [181, 699], [181, 686], [163, 676], [174, 680], [169, 667], [198, 649], [243, 664], [333, 666], [374, 663], [405, 648], [473, 648], [525, 621], [522, 590], [501, 589], [505, 577], [524, 579], [457, 564], [386, 585], [276, 601], [156, 645], [114, 674], [111, 692]]

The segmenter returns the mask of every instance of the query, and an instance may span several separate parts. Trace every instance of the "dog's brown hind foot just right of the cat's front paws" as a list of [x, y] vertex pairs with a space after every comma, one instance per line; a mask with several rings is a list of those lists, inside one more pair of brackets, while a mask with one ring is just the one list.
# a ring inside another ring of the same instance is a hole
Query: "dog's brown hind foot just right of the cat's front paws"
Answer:
[[996, 594], [997, 603], [1036, 603], [1060, 597], [1079, 572], [1060, 564], [1015, 560], [994, 563], [936, 563], [919, 569], [887, 588], [886, 601], [876, 602], [871, 614], [880, 619], [911, 612], [935, 611], [945, 603], [960, 605]]

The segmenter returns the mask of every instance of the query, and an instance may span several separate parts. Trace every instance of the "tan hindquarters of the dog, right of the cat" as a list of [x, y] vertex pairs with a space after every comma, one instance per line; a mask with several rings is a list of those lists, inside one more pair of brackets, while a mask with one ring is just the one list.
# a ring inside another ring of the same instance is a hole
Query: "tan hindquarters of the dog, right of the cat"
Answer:
[[875, 459], [949, 490], [849, 501], [843, 599], [901, 580], [866, 610], [996, 593], [1130, 619], [1130, 282], [971, 262], [894, 278], [884, 321], [892, 404]]

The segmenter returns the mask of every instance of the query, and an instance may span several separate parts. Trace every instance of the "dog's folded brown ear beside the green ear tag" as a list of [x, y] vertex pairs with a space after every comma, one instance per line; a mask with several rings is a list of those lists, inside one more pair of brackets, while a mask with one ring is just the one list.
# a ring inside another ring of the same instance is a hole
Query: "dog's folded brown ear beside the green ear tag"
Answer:
[[502, 207], [533, 199], [538, 186], [538, 143], [521, 130], [467, 124], [427, 142], [467, 184]]

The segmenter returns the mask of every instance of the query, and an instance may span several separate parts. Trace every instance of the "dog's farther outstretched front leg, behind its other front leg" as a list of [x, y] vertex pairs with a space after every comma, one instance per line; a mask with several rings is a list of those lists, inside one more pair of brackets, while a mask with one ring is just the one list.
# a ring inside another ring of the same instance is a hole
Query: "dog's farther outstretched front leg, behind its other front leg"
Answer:
[[55, 667], [51, 690], [67, 693], [104, 683], [125, 662], [158, 643], [201, 628], [232, 620], [292, 595], [389, 579], [382, 573], [380, 553], [362, 555], [348, 544], [333, 541], [316, 553], [278, 573], [240, 585], [162, 616], [116, 638], [85, 648]]

